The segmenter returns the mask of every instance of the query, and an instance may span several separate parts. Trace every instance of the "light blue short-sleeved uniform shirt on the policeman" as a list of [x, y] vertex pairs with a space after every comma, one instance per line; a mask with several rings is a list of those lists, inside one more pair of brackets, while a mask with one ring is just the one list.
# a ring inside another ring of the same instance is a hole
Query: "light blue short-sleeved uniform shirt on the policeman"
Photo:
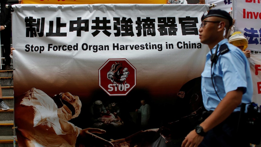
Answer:
[[[226, 43], [230, 51], [220, 55], [217, 63], [212, 66], [213, 82], [216, 92], [222, 100], [227, 92], [236, 90], [238, 87], [243, 87], [242, 102], [249, 103], [253, 95], [253, 83], [249, 62], [244, 53], [239, 48], [228, 43], [227, 39], [223, 39], [218, 43], [217, 55], [219, 54], [220, 46], [224, 43]], [[210, 57], [211, 52], [214, 54], [215, 51], [216, 46], [206, 55], [205, 68], [201, 74], [201, 92], [206, 110], [214, 110], [220, 103], [220, 99], [216, 95], [211, 82]], [[229, 104], [227, 106], [229, 107]], [[234, 112], [237, 111], [240, 111], [240, 107], [234, 110]]]

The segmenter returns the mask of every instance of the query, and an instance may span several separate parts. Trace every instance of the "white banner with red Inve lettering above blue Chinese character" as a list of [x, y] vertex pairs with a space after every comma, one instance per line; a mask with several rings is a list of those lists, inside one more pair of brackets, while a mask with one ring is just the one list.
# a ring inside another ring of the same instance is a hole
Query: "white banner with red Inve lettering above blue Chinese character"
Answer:
[[244, 0], [233, 2], [235, 31], [240, 31], [248, 39], [247, 49], [261, 51], [260, 1]]

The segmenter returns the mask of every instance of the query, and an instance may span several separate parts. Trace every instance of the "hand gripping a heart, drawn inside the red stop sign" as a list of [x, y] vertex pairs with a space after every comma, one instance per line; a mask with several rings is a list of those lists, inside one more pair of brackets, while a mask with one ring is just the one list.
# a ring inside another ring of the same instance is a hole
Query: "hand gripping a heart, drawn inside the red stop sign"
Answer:
[[111, 70], [107, 72], [107, 78], [111, 80], [112, 83], [122, 84], [129, 75], [128, 68], [125, 68], [122, 63], [117, 63], [111, 65]]

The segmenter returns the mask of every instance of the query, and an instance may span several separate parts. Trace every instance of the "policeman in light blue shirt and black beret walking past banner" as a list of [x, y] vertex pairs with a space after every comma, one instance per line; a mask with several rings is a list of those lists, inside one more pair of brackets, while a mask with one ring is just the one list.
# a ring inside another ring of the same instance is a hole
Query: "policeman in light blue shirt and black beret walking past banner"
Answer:
[[240, 105], [251, 102], [253, 84], [246, 56], [225, 37], [232, 18], [226, 11], [214, 9], [205, 12], [201, 21], [200, 42], [210, 48], [201, 74], [201, 92], [210, 115], [185, 137], [182, 147], [249, 146], [237, 138], [236, 131]]

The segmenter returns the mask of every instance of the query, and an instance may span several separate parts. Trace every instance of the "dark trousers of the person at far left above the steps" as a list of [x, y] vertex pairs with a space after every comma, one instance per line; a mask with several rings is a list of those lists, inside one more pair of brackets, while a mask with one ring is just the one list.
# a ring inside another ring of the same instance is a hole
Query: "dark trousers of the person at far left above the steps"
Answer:
[[4, 64], [9, 65], [11, 63], [11, 30], [6, 28], [2, 31], [0, 31], [1, 36], [1, 45], [4, 47], [3, 57], [5, 57]]

